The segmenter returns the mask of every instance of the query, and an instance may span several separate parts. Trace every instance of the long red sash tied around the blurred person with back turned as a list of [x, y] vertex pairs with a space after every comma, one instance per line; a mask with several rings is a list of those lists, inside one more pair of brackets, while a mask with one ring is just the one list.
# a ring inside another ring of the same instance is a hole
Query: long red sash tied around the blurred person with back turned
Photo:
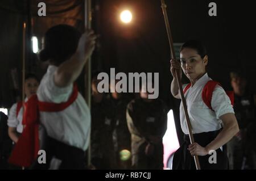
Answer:
[[32, 95], [26, 103], [24, 103], [24, 112], [22, 124], [24, 129], [16, 142], [13, 152], [10, 155], [9, 163], [14, 165], [29, 167], [38, 157], [39, 151], [39, 111], [42, 112], [59, 112], [65, 110], [77, 98], [78, 90], [74, 84], [73, 92], [65, 103], [47, 103], [40, 102], [38, 97]]

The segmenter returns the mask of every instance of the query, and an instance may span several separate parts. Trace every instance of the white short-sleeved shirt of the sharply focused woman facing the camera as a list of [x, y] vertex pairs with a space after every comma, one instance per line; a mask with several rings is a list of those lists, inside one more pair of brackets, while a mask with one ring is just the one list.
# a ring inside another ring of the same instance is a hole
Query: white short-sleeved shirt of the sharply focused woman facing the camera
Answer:
[[[193, 133], [216, 131], [221, 128], [220, 116], [225, 113], [234, 113], [230, 99], [221, 86], [217, 85], [213, 90], [211, 106], [214, 111], [210, 110], [204, 103], [202, 91], [205, 84], [210, 80], [212, 79], [205, 73], [193, 87], [189, 87], [184, 95]], [[187, 85], [183, 85], [183, 90], [185, 86]], [[182, 103], [180, 103], [180, 124], [182, 131], [188, 134]]]

